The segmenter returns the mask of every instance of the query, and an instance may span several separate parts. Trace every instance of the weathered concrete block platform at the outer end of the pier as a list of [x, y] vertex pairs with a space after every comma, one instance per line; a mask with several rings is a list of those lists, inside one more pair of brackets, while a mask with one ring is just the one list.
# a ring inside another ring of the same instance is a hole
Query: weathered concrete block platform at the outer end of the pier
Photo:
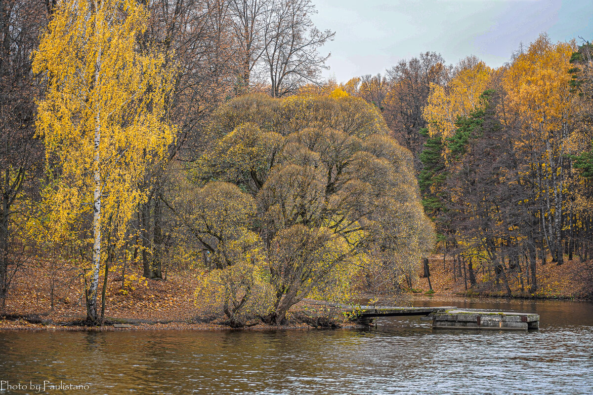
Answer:
[[447, 310], [432, 313], [431, 316], [434, 329], [527, 331], [540, 326], [540, 316], [532, 313]]

